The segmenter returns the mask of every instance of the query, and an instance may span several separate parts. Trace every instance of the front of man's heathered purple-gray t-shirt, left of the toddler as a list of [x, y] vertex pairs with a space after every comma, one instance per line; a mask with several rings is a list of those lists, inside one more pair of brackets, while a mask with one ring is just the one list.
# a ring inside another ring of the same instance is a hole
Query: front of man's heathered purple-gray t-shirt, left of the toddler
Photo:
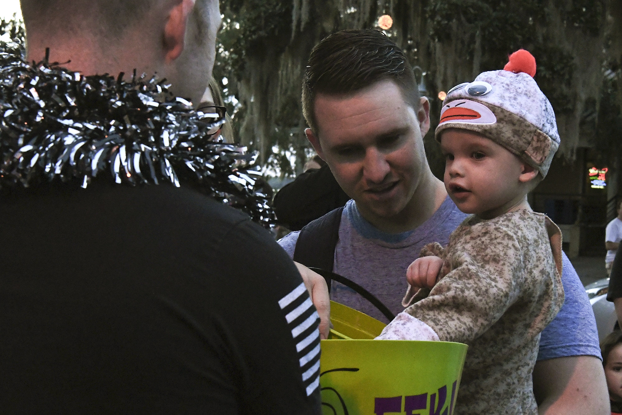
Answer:
[[[404, 311], [402, 297], [408, 288], [408, 265], [419, 257], [425, 244], [439, 242], [442, 246], [447, 245], [450, 234], [465, 217], [452, 199], [447, 198], [434, 215], [416, 229], [388, 234], [366, 221], [355, 201], [351, 200], [346, 203], [341, 216], [333, 272], [373, 293], [397, 315]], [[294, 256], [298, 234], [292, 232], [279, 241], [290, 257]], [[333, 281], [330, 291], [333, 301], [356, 308], [381, 322], [389, 322], [376, 307], [345, 285]]]

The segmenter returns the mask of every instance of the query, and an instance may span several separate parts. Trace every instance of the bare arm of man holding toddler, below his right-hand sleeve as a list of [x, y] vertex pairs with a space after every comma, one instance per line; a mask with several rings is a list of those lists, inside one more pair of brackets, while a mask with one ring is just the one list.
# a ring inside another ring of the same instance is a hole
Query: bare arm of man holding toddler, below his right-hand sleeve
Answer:
[[595, 356], [536, 362], [534, 394], [540, 415], [610, 415], [605, 372]]

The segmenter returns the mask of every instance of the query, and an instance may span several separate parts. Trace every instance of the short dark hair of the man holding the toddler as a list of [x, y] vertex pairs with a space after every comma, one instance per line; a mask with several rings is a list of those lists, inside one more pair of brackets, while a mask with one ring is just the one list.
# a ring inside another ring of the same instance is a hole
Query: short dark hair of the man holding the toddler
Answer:
[[419, 88], [411, 65], [388, 36], [375, 29], [332, 34], [313, 48], [302, 85], [302, 112], [317, 134], [314, 100], [318, 94], [349, 95], [383, 80], [400, 88], [404, 101], [419, 110]]

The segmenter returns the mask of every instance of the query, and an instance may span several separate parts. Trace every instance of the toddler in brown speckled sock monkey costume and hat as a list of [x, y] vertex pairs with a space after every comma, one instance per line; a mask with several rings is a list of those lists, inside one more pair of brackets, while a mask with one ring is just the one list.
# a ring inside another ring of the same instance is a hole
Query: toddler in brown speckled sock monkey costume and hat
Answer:
[[424, 247], [407, 271], [409, 307], [378, 337], [466, 343], [457, 414], [537, 414], [540, 333], [564, 303], [561, 233], [527, 203], [559, 146], [535, 73], [519, 50], [448, 92], [435, 136], [447, 193], [471, 216], [445, 249]]

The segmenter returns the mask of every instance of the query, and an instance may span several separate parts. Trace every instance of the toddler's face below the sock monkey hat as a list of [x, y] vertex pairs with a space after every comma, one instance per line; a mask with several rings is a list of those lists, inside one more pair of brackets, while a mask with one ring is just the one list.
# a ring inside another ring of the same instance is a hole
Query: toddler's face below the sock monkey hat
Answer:
[[491, 219], [509, 211], [526, 194], [519, 176], [525, 163], [503, 146], [468, 130], [443, 131], [445, 188], [465, 213]]

